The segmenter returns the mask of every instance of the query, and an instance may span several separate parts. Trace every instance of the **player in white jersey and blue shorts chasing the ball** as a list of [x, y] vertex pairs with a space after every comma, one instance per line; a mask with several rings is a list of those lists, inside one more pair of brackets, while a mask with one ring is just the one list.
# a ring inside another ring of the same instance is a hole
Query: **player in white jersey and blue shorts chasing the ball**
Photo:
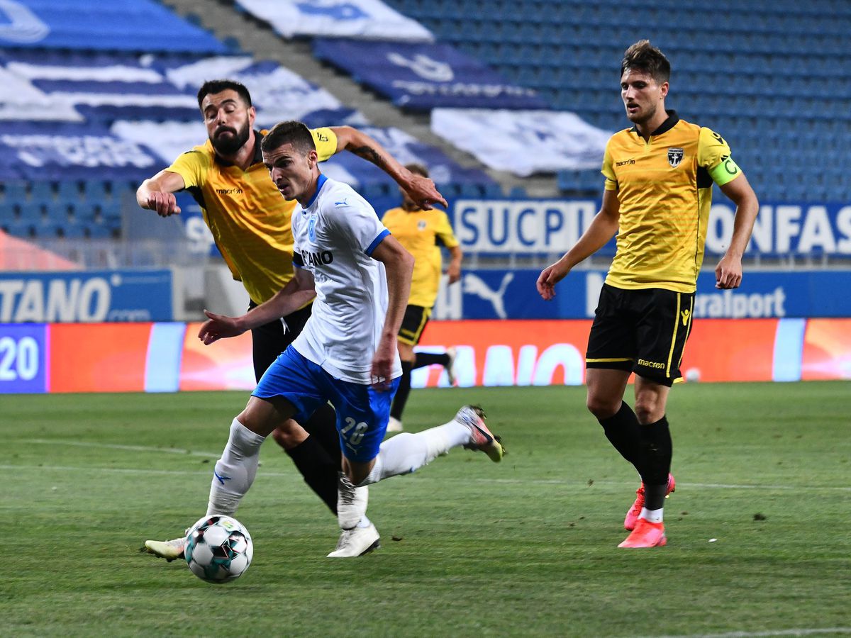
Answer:
[[[319, 172], [316, 147], [303, 123], [277, 124], [261, 149], [282, 196], [300, 204], [292, 220], [295, 276], [243, 316], [205, 310], [209, 318], [198, 337], [208, 345], [237, 336], [316, 300], [305, 328], [233, 419], [215, 464], [207, 516], [236, 512], [254, 481], [260, 445], [272, 430], [330, 401], [343, 450], [337, 504], [343, 533], [328, 556], [363, 555], [379, 546], [379, 534], [366, 516], [365, 486], [413, 472], [452, 447], [482, 450], [494, 461], [502, 459], [503, 449], [484, 424], [482, 410], [470, 406], [461, 407], [446, 424], [382, 442], [402, 374], [396, 338], [414, 258], [363, 197]], [[154, 550], [164, 557], [180, 555], [183, 542], [157, 543]]]

